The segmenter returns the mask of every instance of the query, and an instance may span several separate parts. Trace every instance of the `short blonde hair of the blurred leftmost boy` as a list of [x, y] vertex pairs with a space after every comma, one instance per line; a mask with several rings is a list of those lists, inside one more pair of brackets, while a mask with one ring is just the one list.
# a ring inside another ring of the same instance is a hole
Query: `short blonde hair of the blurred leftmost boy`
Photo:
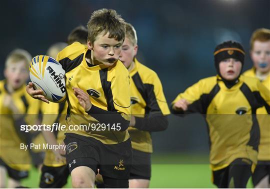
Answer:
[[24, 49], [17, 48], [12, 50], [6, 57], [5, 67], [7, 67], [11, 62], [16, 63], [18, 61], [24, 60], [25, 67], [28, 68], [28, 64], [31, 61], [32, 56], [29, 52]]

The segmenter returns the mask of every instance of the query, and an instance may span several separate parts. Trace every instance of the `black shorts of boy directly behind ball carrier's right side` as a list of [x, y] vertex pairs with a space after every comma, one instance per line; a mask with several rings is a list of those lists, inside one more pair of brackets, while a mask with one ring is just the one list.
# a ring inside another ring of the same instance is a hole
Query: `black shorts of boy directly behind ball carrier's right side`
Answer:
[[132, 165], [129, 179], [147, 179], [151, 177], [151, 153], [132, 148]]

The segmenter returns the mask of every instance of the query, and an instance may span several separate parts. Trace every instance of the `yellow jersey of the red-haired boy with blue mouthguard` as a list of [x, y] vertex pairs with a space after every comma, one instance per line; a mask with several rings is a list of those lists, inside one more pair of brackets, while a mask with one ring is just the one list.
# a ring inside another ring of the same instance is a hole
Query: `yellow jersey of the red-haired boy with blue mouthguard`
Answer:
[[[248, 69], [243, 75], [256, 77], [255, 68]], [[260, 82], [270, 90], [270, 74]], [[258, 108], [256, 113], [260, 128], [258, 160], [270, 160], [270, 115], [267, 114], [265, 107]]]

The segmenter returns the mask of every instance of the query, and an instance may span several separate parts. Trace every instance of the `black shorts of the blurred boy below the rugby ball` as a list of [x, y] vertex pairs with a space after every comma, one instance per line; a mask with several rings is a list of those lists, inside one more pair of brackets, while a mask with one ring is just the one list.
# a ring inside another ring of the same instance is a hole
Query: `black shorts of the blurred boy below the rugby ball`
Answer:
[[61, 188], [63, 187], [69, 175], [67, 165], [63, 166], [46, 166], [41, 168], [40, 188]]

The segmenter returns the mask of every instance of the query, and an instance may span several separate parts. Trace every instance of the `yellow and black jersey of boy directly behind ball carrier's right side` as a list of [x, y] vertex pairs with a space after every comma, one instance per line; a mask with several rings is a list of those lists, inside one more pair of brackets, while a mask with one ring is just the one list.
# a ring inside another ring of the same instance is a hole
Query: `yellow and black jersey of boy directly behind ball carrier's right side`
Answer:
[[132, 148], [152, 152], [151, 131], [167, 127], [169, 108], [157, 74], [134, 58], [130, 70], [131, 114], [135, 116], [134, 127], [128, 127]]

